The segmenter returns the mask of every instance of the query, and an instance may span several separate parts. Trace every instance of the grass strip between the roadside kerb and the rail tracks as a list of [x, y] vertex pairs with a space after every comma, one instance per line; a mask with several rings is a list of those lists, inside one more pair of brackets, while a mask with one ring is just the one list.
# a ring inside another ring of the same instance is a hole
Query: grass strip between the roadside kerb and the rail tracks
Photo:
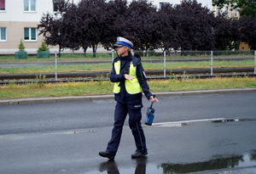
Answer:
[[[211, 79], [184, 78], [182, 80], [153, 80], [148, 81], [150, 91], [183, 91], [219, 88], [256, 87], [256, 78], [232, 77]], [[15, 85], [10, 83], [0, 87], [0, 98], [37, 98], [37, 97], [63, 97], [80, 96], [88, 94], [113, 93], [113, 83], [110, 81], [82, 81], [46, 84], [42, 82]]]

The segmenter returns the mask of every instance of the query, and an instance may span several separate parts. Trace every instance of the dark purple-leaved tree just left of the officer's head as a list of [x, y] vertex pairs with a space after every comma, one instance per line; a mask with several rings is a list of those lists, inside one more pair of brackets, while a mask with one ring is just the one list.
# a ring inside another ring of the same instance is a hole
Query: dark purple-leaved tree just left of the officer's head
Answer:
[[79, 3], [79, 27], [82, 47], [90, 46], [94, 57], [96, 49], [110, 35], [113, 18], [108, 14], [105, 0], [84, 0]]

